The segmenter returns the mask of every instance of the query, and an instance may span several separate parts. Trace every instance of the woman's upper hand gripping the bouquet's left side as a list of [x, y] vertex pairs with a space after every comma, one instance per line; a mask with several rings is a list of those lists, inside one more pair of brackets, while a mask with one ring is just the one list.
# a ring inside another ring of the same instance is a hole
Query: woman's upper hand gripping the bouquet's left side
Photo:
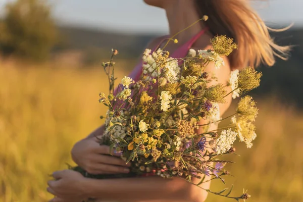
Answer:
[[120, 156], [115, 151], [110, 154], [110, 147], [100, 145], [95, 137], [77, 142], [72, 149], [74, 162], [90, 174], [129, 173], [130, 164]]

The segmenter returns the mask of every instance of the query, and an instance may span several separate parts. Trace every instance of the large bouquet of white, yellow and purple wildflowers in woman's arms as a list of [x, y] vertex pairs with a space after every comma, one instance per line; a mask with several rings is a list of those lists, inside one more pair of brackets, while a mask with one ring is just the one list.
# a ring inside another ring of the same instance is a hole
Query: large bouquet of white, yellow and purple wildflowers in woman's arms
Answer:
[[[100, 143], [122, 152], [122, 158], [132, 163], [132, 176], [179, 176], [189, 182], [199, 178], [196, 185], [209, 181], [205, 176], [211, 176], [211, 180], [224, 182], [222, 176], [229, 173], [223, 167], [229, 162], [220, 157], [235, 152], [236, 139], [248, 148], [252, 146], [258, 109], [250, 96], [241, 98], [235, 113], [224, 118], [231, 119], [228, 127], [212, 131], [209, 127], [224, 120], [219, 104], [226, 102], [225, 97], [232, 94], [236, 98], [258, 87], [262, 74], [247, 67], [233, 71], [228, 83], [209, 85], [216, 78], [209, 76], [206, 66], [214, 62], [220, 68], [224, 63], [221, 56], [237, 48], [226, 36], [216, 36], [211, 42], [213, 49], [190, 49], [185, 58], [171, 58], [160, 48], [154, 53], [146, 49], [140, 80], [125, 76], [116, 90], [113, 58], [117, 51], [113, 50], [110, 62], [103, 64], [110, 93], [99, 94], [99, 102], [108, 107], [106, 117], [102, 117], [106, 118], [106, 130]], [[246, 192], [232, 197], [227, 189], [207, 191], [238, 201], [249, 197]]]

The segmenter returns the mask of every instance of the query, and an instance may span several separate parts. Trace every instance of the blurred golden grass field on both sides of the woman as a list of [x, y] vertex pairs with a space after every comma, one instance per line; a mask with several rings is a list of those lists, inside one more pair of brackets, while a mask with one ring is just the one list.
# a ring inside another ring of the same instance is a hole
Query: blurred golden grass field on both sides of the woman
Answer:
[[[72, 145], [103, 123], [97, 100], [108, 82], [102, 68], [19, 66], [0, 63], [0, 201], [47, 201], [48, 174], [72, 164]], [[121, 69], [119, 78], [127, 73]], [[236, 144], [241, 157], [230, 158], [236, 177], [226, 178], [227, 185], [235, 184], [236, 195], [248, 189], [248, 201], [303, 201], [303, 115], [274, 99], [258, 104], [259, 136], [251, 149]]]

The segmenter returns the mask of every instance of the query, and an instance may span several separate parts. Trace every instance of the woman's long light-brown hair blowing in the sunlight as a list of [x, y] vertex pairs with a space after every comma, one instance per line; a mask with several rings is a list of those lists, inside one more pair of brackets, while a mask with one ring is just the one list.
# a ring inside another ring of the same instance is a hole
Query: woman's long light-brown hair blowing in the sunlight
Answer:
[[275, 56], [287, 60], [290, 46], [277, 45], [269, 35], [269, 30], [287, 28], [268, 28], [248, 0], [196, 0], [196, 4], [201, 18], [209, 17], [204, 23], [213, 35], [226, 35], [238, 44], [229, 56], [232, 69], [257, 67], [261, 63], [273, 66]]

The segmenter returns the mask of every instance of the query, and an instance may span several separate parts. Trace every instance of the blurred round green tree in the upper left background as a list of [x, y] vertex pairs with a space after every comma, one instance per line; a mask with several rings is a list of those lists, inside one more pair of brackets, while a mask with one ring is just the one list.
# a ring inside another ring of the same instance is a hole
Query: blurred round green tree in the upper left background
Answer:
[[51, 7], [44, 0], [8, 3], [0, 22], [0, 50], [30, 60], [47, 59], [57, 41]]

